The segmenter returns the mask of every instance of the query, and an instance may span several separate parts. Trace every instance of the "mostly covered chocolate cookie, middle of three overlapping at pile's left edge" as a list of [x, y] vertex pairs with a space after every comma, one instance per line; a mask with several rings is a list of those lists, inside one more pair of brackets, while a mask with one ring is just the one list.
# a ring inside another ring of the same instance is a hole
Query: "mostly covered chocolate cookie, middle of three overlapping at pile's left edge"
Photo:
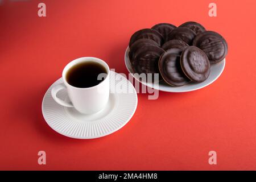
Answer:
[[134, 60], [138, 49], [144, 46], [150, 46], [150, 45], [158, 46], [158, 43], [156, 43], [154, 40], [151, 40], [151, 39], [139, 39], [135, 41], [133, 45], [131, 45], [131, 47], [129, 48], [129, 59]]

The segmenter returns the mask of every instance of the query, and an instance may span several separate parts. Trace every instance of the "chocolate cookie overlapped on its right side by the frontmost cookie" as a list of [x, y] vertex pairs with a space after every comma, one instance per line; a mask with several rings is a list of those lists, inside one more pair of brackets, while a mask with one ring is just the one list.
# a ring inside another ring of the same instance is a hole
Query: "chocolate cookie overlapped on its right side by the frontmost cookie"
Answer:
[[171, 86], [183, 86], [191, 81], [181, 69], [181, 53], [181, 49], [171, 48], [164, 52], [159, 59], [159, 71], [164, 81]]

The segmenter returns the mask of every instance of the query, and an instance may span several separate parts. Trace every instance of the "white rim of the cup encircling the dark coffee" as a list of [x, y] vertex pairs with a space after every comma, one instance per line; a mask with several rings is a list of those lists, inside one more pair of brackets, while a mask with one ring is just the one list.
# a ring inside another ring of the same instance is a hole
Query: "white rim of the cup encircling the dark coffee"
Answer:
[[64, 69], [62, 71], [62, 78], [63, 78], [64, 84], [66, 84], [68, 86], [71, 86], [74, 89], [80, 89], [80, 90], [82, 90], [82, 89], [88, 90], [88, 89], [96, 88], [98, 86], [98, 85], [94, 85], [94, 86], [90, 86], [90, 87], [86, 87], [86, 88], [79, 88], [79, 87], [76, 87], [76, 86], [73, 86], [73, 85], [69, 84], [68, 81], [66, 80], [66, 74], [67, 74], [68, 70], [73, 65], [76, 65], [76, 64], [79, 64], [79, 63], [82, 63], [82, 62], [86, 62], [86, 61], [93, 61], [93, 62], [100, 63], [101, 65], [103, 65], [106, 68], [107, 76], [98, 85], [101, 85], [103, 82], [105, 82], [107, 80], [107, 78], [110, 75], [110, 69], [109, 69], [109, 65], [104, 60], [102, 60], [100, 58], [97, 58], [97, 57], [79, 57], [79, 58], [77, 58], [75, 60], [70, 61], [67, 65], [65, 65], [65, 67], [64, 67]]

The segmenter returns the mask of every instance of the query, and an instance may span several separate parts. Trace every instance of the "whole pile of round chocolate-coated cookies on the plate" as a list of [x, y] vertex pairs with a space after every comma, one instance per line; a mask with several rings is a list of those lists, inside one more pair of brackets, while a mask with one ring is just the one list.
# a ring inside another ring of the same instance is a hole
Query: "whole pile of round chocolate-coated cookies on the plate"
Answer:
[[171, 86], [205, 81], [210, 65], [224, 60], [227, 53], [226, 40], [196, 22], [179, 27], [159, 23], [135, 32], [129, 43], [133, 71], [160, 73], [160, 80]]

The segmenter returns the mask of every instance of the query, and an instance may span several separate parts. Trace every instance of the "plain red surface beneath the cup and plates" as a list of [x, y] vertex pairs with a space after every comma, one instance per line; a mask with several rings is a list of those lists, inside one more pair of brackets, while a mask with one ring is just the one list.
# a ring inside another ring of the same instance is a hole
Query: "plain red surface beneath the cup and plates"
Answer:
[[[0, 5], [0, 169], [256, 169], [256, 2], [42, 1]], [[128, 73], [123, 55], [133, 32], [160, 22], [195, 20], [229, 44], [224, 73], [207, 88], [138, 94], [134, 117], [107, 137], [77, 140], [53, 131], [41, 103], [69, 61], [105, 60]], [[39, 166], [38, 151], [47, 154]], [[217, 165], [208, 152], [217, 152]]]

